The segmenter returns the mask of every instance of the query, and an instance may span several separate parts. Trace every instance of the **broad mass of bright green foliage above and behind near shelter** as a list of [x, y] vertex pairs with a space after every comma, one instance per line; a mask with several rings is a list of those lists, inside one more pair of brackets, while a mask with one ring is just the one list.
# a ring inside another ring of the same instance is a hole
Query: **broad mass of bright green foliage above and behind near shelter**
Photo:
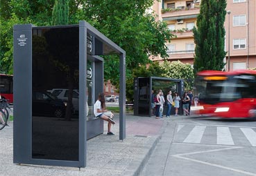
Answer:
[[[67, 2], [69, 8], [56, 6], [57, 3], [67, 5]], [[13, 24], [33, 23], [35, 26], [64, 24], [66, 22], [62, 21], [60, 16], [63, 14], [66, 17], [68, 12], [67, 23], [76, 24], [79, 20], [86, 20], [126, 50], [126, 75], [132, 77], [134, 68], [151, 62], [148, 59], [149, 55], [161, 55], [166, 58], [165, 41], [173, 36], [167, 28], [167, 23], [155, 21], [155, 15], [146, 13], [153, 3], [153, 0], [1, 0], [1, 70], [12, 72]], [[104, 59], [105, 80], [110, 79], [113, 84], [118, 85], [119, 57], [108, 56]]]

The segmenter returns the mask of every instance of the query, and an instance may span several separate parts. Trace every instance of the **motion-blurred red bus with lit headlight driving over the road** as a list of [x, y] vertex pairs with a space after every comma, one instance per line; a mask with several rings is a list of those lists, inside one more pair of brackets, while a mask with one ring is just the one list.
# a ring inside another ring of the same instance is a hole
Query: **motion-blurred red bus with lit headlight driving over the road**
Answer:
[[200, 115], [256, 117], [256, 70], [198, 72]]

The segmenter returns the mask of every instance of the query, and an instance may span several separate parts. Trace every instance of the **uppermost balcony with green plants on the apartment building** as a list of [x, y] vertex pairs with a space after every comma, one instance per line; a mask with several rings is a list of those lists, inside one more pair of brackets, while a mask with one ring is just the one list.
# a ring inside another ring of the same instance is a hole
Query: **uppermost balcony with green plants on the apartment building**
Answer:
[[[196, 18], [196, 16], [200, 13], [200, 8], [166, 8], [162, 9], [162, 18], [163, 20], [168, 17], [180, 17], [180, 16], [189, 16]], [[184, 18], [185, 19], [185, 18]], [[171, 20], [171, 19], [170, 19]], [[167, 21], [167, 20], [164, 20]]]

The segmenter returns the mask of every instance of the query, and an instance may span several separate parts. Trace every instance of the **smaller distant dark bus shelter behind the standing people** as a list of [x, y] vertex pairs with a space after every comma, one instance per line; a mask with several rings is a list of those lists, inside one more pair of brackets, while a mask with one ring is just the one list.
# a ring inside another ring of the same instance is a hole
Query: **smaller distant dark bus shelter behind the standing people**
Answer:
[[[134, 79], [134, 115], [151, 117], [151, 92], [154, 90], [156, 95], [158, 90], [164, 92], [166, 98], [167, 93], [171, 90], [178, 92], [180, 97], [184, 92], [183, 79], [171, 79], [166, 77], [136, 77]], [[171, 114], [174, 114], [174, 108], [171, 108]], [[164, 115], [166, 108], [164, 108]], [[179, 109], [182, 114], [182, 109]]]

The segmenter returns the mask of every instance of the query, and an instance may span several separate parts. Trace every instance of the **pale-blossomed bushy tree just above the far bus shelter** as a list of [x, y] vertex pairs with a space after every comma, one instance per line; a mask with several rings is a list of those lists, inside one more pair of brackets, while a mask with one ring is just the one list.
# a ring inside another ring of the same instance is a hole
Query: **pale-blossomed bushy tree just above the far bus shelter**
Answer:
[[193, 68], [189, 63], [182, 63], [181, 61], [164, 61], [160, 66], [164, 73], [162, 77], [169, 77], [173, 79], [184, 79], [185, 89], [191, 90], [194, 84]]

